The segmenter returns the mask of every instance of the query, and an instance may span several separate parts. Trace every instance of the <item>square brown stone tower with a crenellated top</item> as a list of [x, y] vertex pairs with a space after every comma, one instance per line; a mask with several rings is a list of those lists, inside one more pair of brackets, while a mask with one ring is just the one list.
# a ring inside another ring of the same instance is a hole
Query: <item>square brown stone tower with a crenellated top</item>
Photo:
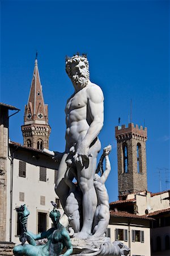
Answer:
[[147, 128], [133, 123], [115, 127], [118, 159], [118, 196], [147, 190]]

